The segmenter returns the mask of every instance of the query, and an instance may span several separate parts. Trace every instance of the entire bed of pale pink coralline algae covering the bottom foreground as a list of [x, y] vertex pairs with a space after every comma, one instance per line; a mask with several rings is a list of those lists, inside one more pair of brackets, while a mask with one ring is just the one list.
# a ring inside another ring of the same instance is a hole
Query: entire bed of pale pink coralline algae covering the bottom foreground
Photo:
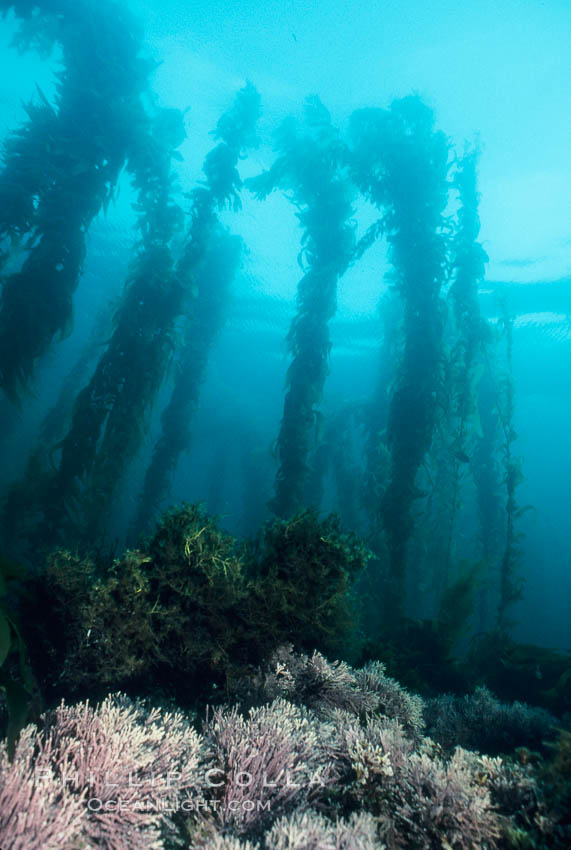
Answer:
[[0, 847], [499, 850], [555, 834], [529, 765], [422, 737], [422, 702], [382, 665], [286, 649], [243, 693], [272, 699], [209, 710], [201, 734], [121, 694], [62, 703], [12, 762], [0, 745]]

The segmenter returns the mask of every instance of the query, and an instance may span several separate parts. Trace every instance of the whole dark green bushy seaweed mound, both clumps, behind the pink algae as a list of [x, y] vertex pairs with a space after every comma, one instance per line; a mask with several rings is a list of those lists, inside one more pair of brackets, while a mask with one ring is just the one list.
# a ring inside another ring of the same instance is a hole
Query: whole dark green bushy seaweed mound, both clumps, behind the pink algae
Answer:
[[24, 605], [34, 669], [50, 700], [113, 688], [212, 698], [283, 643], [343, 648], [367, 557], [334, 517], [276, 521], [244, 549], [183, 506], [107, 566], [49, 557]]

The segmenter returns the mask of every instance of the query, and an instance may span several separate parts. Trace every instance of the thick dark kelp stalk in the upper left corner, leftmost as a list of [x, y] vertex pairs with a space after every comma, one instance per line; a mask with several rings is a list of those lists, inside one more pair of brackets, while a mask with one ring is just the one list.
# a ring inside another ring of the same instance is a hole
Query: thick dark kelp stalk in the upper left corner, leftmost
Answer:
[[0, 10], [10, 8], [24, 19], [19, 46], [59, 43], [64, 63], [53, 108], [43, 95], [28, 108], [0, 176], [0, 195], [14, 201], [9, 217], [0, 216], [0, 236], [27, 235], [28, 248], [0, 302], [0, 386], [16, 400], [35, 361], [70, 326], [86, 234], [139, 133], [150, 67], [115, 0], [1, 2]]

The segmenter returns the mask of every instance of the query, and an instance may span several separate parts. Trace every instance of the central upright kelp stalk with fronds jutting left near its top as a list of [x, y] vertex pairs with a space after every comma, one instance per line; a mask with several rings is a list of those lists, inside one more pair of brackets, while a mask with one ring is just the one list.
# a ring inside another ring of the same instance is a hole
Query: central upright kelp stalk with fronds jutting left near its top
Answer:
[[335, 313], [337, 281], [354, 244], [351, 184], [343, 168], [344, 146], [317, 97], [306, 101], [304, 124], [286, 120], [277, 134], [278, 158], [270, 170], [248, 181], [259, 198], [287, 190], [303, 228], [298, 262], [304, 270], [297, 289], [297, 315], [287, 345], [284, 412], [277, 440], [279, 469], [272, 508], [289, 518], [304, 501], [312, 430], [327, 377], [328, 322]]

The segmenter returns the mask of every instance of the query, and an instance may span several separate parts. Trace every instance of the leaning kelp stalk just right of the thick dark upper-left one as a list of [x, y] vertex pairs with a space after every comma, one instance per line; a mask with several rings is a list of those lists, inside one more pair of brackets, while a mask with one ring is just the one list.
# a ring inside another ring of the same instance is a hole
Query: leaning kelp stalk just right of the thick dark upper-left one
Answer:
[[140, 446], [172, 358], [175, 323], [187, 291], [175, 274], [171, 252], [183, 225], [182, 210], [173, 201], [171, 160], [184, 135], [181, 113], [160, 110], [148, 120], [131, 155], [141, 238], [113, 334], [77, 398], [71, 427], [61, 442], [44, 505], [44, 539], [53, 539], [66, 513], [84, 531], [101, 524]]

